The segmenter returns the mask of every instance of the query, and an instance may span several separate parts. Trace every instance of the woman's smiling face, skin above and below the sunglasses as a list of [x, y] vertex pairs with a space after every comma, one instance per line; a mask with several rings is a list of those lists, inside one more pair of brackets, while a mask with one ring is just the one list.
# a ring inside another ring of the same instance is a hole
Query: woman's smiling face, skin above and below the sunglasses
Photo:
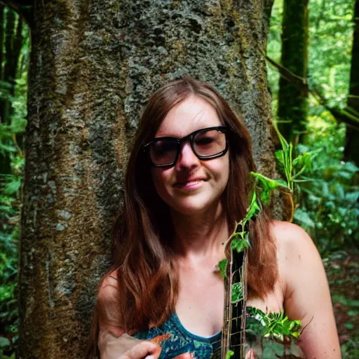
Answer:
[[[214, 126], [223, 126], [215, 108], [193, 95], [168, 112], [155, 137], [182, 138]], [[175, 212], [194, 215], [216, 210], [229, 178], [229, 153], [203, 161], [188, 141], [182, 144], [175, 165], [152, 167], [151, 174], [158, 195]]]

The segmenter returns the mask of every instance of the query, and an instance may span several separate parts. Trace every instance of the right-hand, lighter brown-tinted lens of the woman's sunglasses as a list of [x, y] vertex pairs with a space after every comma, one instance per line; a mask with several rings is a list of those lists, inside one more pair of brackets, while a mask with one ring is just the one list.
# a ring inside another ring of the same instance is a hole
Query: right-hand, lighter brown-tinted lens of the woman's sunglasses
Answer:
[[215, 156], [225, 149], [226, 134], [220, 130], [201, 131], [194, 136], [194, 151], [198, 156]]

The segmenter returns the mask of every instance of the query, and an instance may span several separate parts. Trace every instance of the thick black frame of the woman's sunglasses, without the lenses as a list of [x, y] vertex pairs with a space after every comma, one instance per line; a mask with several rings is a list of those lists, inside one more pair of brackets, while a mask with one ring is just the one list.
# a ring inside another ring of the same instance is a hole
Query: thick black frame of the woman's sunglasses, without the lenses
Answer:
[[[197, 135], [197, 133], [206, 132], [206, 131], [210, 131], [210, 130], [218, 130], [219, 132], [224, 133], [224, 135], [226, 136], [226, 148], [223, 151], [219, 152], [219, 154], [214, 154], [211, 156], [200, 156], [196, 153], [196, 150], [194, 149], [194, 137]], [[144, 147], [142, 147], [142, 151], [147, 151], [147, 154], [149, 157], [149, 162], [154, 167], [172, 167], [177, 163], [179, 154], [181, 152], [182, 144], [184, 144], [184, 142], [187, 142], [189, 140], [189, 143], [191, 144], [191, 149], [194, 152], [194, 154], [197, 156], [197, 158], [199, 158], [202, 161], [211, 160], [212, 158], [224, 156], [226, 154], [226, 151], [228, 151], [229, 144], [228, 144], [227, 133], [228, 133], [228, 130], [225, 126], [215, 126], [215, 127], [201, 128], [201, 130], [196, 130], [193, 133], [190, 133], [189, 135], [184, 136], [182, 138], [169, 137], [169, 136], [157, 137], [154, 140], [152, 140], [151, 142], [145, 144]], [[153, 144], [154, 142], [157, 142], [157, 141], [161, 141], [161, 140], [172, 140], [174, 142], [177, 142], [177, 154], [176, 154], [175, 160], [172, 161], [171, 163], [165, 163], [164, 165], [158, 165], [156, 163], [153, 163], [151, 160], [151, 155], [149, 154], [149, 147], [151, 146], [151, 144]]]

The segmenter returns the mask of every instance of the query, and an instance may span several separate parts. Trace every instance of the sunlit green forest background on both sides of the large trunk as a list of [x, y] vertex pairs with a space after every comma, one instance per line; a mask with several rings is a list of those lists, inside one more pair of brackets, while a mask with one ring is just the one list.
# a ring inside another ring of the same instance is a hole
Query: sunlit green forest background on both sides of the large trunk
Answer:
[[[0, 1], [0, 358], [18, 342], [30, 8]], [[273, 118], [305, 167], [294, 222], [323, 258], [343, 358], [358, 358], [359, 2], [276, 0], [266, 56]]]

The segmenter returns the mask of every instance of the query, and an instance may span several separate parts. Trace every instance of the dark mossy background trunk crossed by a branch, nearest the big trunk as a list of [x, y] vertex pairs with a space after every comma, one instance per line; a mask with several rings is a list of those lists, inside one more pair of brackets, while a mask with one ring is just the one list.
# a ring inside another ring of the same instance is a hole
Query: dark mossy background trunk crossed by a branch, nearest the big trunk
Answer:
[[[306, 79], [308, 68], [308, 0], [284, 0], [281, 65]], [[306, 129], [307, 97], [304, 86], [280, 77], [278, 128], [293, 141]]]

